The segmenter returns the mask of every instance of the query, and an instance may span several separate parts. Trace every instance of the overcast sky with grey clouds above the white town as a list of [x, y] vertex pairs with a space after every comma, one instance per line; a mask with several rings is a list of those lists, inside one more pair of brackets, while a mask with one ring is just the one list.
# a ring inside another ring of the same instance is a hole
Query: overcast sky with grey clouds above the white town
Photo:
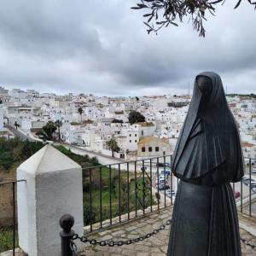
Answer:
[[215, 71], [233, 93], [256, 92], [256, 11], [226, 1], [191, 24], [146, 32], [136, 0], [2, 0], [0, 86], [99, 96], [179, 94]]

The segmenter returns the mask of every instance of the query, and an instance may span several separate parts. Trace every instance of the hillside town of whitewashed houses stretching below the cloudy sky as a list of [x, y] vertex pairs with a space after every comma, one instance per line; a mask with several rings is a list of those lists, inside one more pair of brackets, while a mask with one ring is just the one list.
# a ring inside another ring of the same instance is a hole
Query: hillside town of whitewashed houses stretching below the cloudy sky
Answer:
[[[191, 96], [57, 96], [36, 90], [0, 87], [0, 135], [14, 137], [11, 125], [26, 137], [48, 139], [125, 160], [172, 154]], [[241, 136], [244, 157], [256, 158], [256, 99], [227, 96]], [[135, 117], [129, 119], [129, 114]], [[109, 143], [110, 142], [110, 143]]]

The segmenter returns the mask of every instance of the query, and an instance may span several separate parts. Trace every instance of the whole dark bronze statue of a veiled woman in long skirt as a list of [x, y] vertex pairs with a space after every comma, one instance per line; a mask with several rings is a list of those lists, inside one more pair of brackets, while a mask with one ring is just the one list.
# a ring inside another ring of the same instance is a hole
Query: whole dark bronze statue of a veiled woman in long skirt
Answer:
[[244, 174], [241, 143], [220, 77], [200, 73], [177, 140], [172, 172], [180, 182], [168, 256], [240, 256], [230, 182]]

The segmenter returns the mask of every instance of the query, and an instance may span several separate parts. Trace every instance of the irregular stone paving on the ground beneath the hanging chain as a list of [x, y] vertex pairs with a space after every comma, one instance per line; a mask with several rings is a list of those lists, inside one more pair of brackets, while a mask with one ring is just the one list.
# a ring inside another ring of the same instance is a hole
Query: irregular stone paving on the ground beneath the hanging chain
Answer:
[[[148, 217], [139, 218], [131, 221], [127, 224], [120, 224], [111, 229], [98, 232], [97, 234], [90, 235], [90, 238], [106, 241], [119, 241], [130, 238], [137, 238], [138, 236], [145, 235], [151, 232], [155, 228], [158, 228], [160, 224], [163, 224], [168, 218], [171, 218], [172, 210], [165, 209], [158, 213], [152, 213]], [[256, 229], [256, 226], [255, 226]], [[241, 237], [247, 241], [256, 244], [256, 237], [250, 235], [246, 230], [240, 230]], [[170, 227], [166, 227], [166, 230], [161, 230], [157, 235], [151, 236], [144, 241], [139, 241], [131, 245], [123, 245], [122, 247], [100, 247], [99, 245], [92, 246], [90, 244], [84, 244], [83, 250], [79, 255], [96, 255], [96, 256], [164, 256], [166, 255], [168, 239], [169, 239]], [[255, 256], [256, 250], [251, 247], [241, 245], [242, 256]], [[227, 255], [228, 256], [228, 255]]]

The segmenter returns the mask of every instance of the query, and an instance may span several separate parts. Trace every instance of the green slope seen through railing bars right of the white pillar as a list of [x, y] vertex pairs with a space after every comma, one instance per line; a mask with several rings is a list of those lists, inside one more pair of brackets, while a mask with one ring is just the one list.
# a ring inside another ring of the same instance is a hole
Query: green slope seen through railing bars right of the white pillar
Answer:
[[[88, 157], [88, 155], [73, 154], [70, 150], [63, 146], [57, 146], [63, 154], [66, 154], [69, 158], [73, 159], [80, 166], [83, 167], [83, 192], [84, 192], [84, 225], [90, 224], [90, 218], [92, 223], [100, 221], [100, 202], [101, 202], [101, 190], [102, 190], [102, 220], [110, 218], [110, 197], [111, 197], [111, 211], [112, 218], [119, 216], [119, 183], [120, 183], [120, 213], [125, 214], [128, 212], [128, 183], [127, 172], [119, 172], [117, 169], [111, 169], [111, 178], [109, 177], [109, 168], [107, 166], [99, 167], [98, 160]], [[90, 168], [89, 168], [90, 167]], [[102, 170], [102, 183], [101, 183], [101, 171]], [[90, 182], [91, 172], [91, 182]], [[129, 209], [130, 212], [136, 208], [136, 196], [135, 196], [135, 179], [134, 175], [129, 176]], [[149, 180], [145, 178], [147, 189], [145, 189], [144, 205], [149, 207], [150, 189], [148, 186]], [[102, 189], [101, 189], [102, 188]], [[91, 216], [90, 216], [90, 191], [91, 191]], [[111, 193], [110, 193], [111, 191]], [[137, 210], [142, 209], [143, 206], [143, 177], [137, 177]], [[142, 204], [140, 204], [140, 202]], [[152, 205], [156, 202], [152, 198]]]

